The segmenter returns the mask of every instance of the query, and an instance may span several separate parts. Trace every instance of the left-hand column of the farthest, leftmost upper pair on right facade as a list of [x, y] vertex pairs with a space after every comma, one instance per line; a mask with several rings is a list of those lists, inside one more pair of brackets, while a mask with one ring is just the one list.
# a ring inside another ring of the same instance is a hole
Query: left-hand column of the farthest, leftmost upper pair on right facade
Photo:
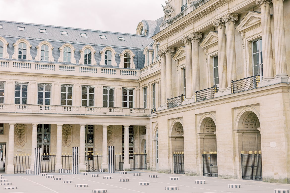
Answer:
[[160, 57], [160, 99], [158, 100], [160, 100], [160, 105], [165, 105], [165, 56], [163, 49], [159, 50], [157, 54]]

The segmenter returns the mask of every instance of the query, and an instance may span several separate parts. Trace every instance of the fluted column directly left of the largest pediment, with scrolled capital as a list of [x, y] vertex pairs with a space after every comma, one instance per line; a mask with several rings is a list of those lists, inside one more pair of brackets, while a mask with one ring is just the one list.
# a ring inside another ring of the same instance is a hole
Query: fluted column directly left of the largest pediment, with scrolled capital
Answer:
[[235, 21], [238, 20], [238, 14], [228, 13], [224, 16], [226, 23], [226, 69], [227, 69], [227, 84], [231, 90], [231, 80], [236, 78], [236, 53], [235, 53]]

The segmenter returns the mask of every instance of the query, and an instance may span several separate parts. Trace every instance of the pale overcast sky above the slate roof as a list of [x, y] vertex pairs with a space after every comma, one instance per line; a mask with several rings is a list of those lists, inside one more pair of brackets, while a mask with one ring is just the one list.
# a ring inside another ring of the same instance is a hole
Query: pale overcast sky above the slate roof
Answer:
[[135, 34], [164, 15], [165, 0], [0, 0], [0, 20]]

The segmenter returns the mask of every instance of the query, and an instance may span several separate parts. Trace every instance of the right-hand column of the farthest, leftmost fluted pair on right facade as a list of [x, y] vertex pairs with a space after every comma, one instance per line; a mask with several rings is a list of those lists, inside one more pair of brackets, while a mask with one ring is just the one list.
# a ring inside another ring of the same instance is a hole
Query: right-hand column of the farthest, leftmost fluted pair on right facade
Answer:
[[163, 49], [165, 54], [165, 98], [172, 98], [172, 67], [171, 54], [174, 52], [174, 47], [166, 47]]

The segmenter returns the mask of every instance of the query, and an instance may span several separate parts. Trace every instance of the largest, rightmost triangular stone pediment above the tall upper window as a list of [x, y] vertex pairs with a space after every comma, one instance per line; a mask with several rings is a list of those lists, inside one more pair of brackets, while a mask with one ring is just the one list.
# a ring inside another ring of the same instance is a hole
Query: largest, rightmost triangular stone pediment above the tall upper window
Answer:
[[236, 27], [238, 32], [247, 32], [261, 25], [261, 13], [249, 11]]

